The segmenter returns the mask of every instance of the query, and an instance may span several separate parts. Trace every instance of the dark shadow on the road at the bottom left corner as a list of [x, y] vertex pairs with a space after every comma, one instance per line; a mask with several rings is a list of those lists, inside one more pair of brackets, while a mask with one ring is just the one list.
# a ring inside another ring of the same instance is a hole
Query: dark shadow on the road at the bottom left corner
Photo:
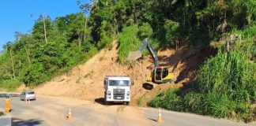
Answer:
[[12, 118], [12, 125], [19, 125], [19, 126], [34, 126], [41, 124], [43, 120], [37, 119], [30, 119], [30, 120], [21, 120], [19, 118]]

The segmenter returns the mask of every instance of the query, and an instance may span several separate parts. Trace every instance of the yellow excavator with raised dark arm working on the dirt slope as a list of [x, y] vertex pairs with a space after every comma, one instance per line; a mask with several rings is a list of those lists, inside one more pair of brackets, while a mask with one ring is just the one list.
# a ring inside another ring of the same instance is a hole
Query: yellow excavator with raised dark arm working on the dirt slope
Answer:
[[141, 57], [143, 50], [145, 47], [149, 50], [149, 54], [152, 56], [154, 60], [153, 69], [150, 74], [147, 76], [148, 82], [153, 83], [170, 83], [173, 81], [173, 73], [169, 72], [167, 66], [159, 66], [158, 64], [158, 57], [154, 50], [152, 50], [152, 46], [149, 43], [149, 38], [146, 38], [142, 41], [141, 47], [139, 50], [130, 52], [128, 56], [129, 61], [136, 61], [138, 58]]

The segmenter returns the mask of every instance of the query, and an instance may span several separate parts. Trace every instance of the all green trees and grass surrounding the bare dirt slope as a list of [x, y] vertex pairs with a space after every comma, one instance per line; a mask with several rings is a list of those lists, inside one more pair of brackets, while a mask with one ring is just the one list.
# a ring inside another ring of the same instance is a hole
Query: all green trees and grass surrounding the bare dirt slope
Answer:
[[[198, 70], [192, 87], [161, 92], [149, 106], [209, 114], [256, 117], [256, 1], [77, 1], [81, 13], [52, 20], [41, 15], [29, 33], [16, 32], [0, 54], [0, 87], [36, 86], [87, 61], [119, 39], [126, 64], [141, 39], [153, 47], [211, 46], [215, 57]], [[227, 47], [227, 45], [229, 45]]]

